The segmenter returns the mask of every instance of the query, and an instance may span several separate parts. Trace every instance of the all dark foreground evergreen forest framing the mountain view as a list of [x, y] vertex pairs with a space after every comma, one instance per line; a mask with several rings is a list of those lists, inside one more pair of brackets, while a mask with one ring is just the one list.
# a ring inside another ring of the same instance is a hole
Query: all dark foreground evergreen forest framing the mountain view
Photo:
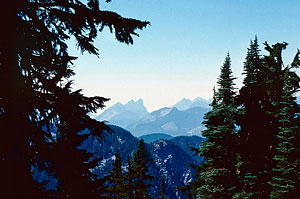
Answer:
[[[79, 50], [98, 55], [93, 43], [103, 28], [133, 44], [149, 22], [102, 11], [98, 0], [8, 1], [0, 20], [1, 198], [152, 198], [157, 176], [149, 174], [153, 160], [143, 140], [126, 160], [117, 152], [104, 177], [93, 172], [101, 158], [80, 146], [114, 133], [88, 115], [108, 99], [73, 91], [76, 57], [67, 45], [73, 38]], [[262, 55], [258, 39], [251, 41], [239, 90], [228, 53], [204, 117], [206, 139], [191, 149], [203, 161], [192, 165], [192, 182], [174, 189], [189, 198], [299, 197], [300, 51], [285, 65], [287, 46], [265, 42]], [[37, 180], [41, 172], [46, 177]], [[55, 187], [47, 186], [50, 180]], [[160, 198], [166, 198], [163, 178]]]

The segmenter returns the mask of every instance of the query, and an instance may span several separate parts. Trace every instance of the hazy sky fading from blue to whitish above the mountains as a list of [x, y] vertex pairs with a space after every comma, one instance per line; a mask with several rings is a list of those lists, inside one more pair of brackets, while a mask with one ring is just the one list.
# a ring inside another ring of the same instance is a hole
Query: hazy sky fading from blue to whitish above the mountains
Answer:
[[74, 48], [74, 88], [88, 96], [111, 98], [106, 105], [142, 98], [148, 111], [182, 98], [212, 97], [227, 52], [241, 86], [243, 62], [251, 39], [286, 41], [289, 64], [300, 48], [299, 0], [112, 0], [102, 9], [151, 22], [131, 46], [107, 31], [95, 45], [100, 58]]

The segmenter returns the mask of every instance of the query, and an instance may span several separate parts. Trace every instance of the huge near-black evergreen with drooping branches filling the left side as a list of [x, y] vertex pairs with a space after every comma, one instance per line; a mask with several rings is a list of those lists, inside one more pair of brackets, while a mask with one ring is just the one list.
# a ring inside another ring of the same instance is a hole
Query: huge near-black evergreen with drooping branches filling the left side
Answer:
[[32, 178], [36, 168], [58, 179], [58, 197], [97, 197], [90, 171], [97, 160], [78, 146], [88, 136], [81, 133], [86, 128], [99, 138], [109, 131], [87, 115], [107, 99], [71, 90], [75, 58], [66, 41], [72, 36], [82, 52], [98, 55], [97, 29], [109, 27], [118, 41], [131, 44], [135, 30], [148, 22], [102, 11], [98, 0], [7, 1], [0, 20], [5, 27], [0, 33], [0, 176], [6, 182], [1, 195], [50, 198]]

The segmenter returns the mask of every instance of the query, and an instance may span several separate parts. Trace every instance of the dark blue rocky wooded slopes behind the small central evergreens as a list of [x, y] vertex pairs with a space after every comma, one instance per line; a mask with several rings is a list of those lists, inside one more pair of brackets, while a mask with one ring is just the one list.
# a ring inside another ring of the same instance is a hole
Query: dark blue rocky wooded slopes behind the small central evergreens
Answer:
[[[90, 137], [81, 146], [81, 148], [93, 152], [95, 157], [103, 158], [93, 171], [99, 176], [104, 176], [111, 170], [117, 151], [120, 151], [123, 167], [126, 168], [127, 154], [132, 157], [138, 145], [138, 139], [130, 132], [117, 126], [111, 126], [111, 128], [114, 133], [107, 135], [104, 141]], [[168, 198], [185, 198], [174, 187], [183, 186], [193, 179], [194, 171], [189, 165], [195, 164], [197, 161], [186, 153], [182, 146], [184, 144], [179, 146], [170, 140], [158, 140], [147, 144], [153, 158], [153, 164], [149, 170], [150, 174], [155, 177], [151, 183], [151, 193], [155, 199], [159, 198], [161, 176], [165, 180], [165, 194]]]

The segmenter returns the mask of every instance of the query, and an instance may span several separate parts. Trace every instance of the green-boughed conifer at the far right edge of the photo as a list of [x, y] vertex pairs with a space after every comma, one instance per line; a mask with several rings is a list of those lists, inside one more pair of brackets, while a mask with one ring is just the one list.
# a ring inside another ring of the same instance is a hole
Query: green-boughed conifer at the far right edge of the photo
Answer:
[[274, 168], [275, 175], [270, 182], [273, 187], [270, 194], [272, 199], [292, 199], [299, 197], [300, 194], [300, 134], [299, 121], [297, 121], [300, 109], [294, 97], [300, 88], [300, 78], [291, 71], [292, 68], [299, 67], [299, 54], [298, 50], [292, 67], [284, 69], [277, 155], [274, 157], [277, 165]]

